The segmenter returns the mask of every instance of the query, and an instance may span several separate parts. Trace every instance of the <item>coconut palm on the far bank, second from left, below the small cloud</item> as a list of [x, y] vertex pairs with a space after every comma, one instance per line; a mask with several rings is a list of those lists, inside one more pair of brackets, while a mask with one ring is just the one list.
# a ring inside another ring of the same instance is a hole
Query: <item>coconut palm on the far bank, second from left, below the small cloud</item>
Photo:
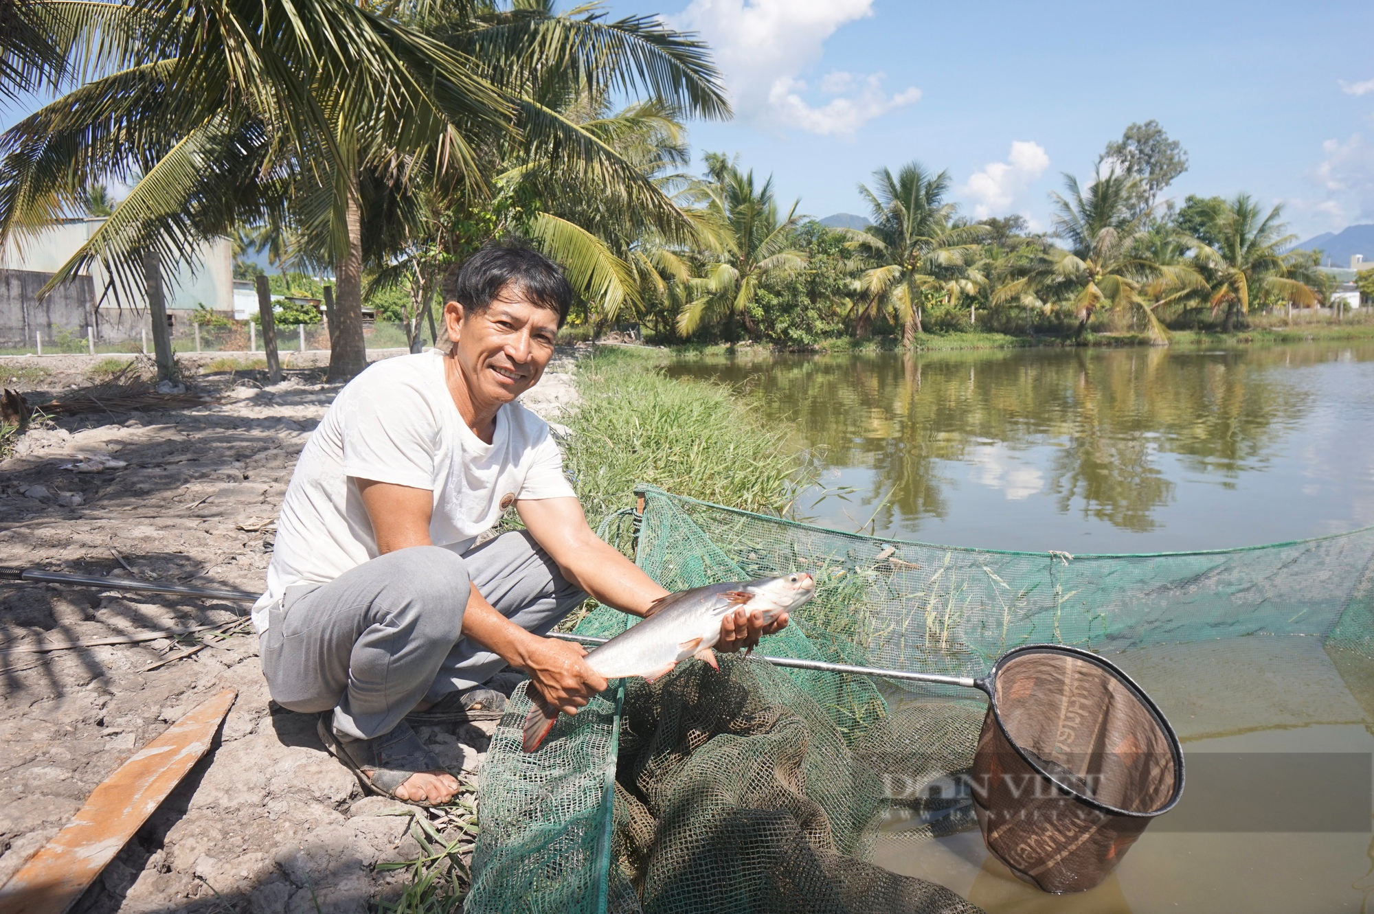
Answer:
[[910, 347], [923, 332], [927, 299], [954, 305], [977, 294], [982, 274], [971, 273], [969, 263], [988, 228], [954, 225], [956, 207], [944, 202], [948, 172], [930, 174], [919, 162], [908, 162], [896, 176], [878, 169], [874, 180], [877, 189], [859, 185], [874, 224], [864, 232], [842, 229], [851, 247], [871, 263], [856, 283], [855, 323], [861, 333], [878, 310], [886, 310], [901, 325], [903, 346]]

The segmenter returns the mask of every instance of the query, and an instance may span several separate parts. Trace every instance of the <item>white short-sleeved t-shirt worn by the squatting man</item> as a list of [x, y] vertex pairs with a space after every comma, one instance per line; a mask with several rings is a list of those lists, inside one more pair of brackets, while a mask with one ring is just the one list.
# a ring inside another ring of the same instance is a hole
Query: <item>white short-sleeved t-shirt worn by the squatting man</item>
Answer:
[[387, 358], [353, 379], [301, 452], [276, 523], [267, 593], [253, 624], [297, 583], [327, 583], [375, 559], [372, 523], [350, 476], [434, 493], [430, 542], [453, 552], [519, 498], [574, 497], [548, 424], [519, 403], [496, 413], [488, 445], [467, 427], [437, 350]]

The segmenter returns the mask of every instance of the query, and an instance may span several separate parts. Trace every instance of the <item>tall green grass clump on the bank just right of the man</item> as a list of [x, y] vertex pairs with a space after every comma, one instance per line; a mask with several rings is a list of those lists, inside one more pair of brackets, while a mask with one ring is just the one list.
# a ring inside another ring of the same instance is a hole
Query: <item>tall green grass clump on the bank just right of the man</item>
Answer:
[[747, 511], [783, 513], [812, 478], [808, 454], [709, 382], [665, 377], [662, 350], [599, 349], [578, 364], [583, 405], [567, 467], [595, 523], [628, 508], [636, 482]]

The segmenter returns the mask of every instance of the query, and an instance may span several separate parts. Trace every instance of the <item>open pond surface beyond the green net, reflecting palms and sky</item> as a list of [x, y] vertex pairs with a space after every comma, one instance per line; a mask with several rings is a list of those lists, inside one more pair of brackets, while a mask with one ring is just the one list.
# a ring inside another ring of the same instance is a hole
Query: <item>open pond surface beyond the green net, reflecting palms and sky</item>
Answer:
[[826, 484], [855, 490], [816, 504], [822, 523], [1117, 552], [1358, 526], [1366, 449], [1312, 450], [1323, 436], [1369, 441], [1374, 417], [1352, 406], [1371, 388], [1371, 360], [1374, 344], [1308, 344], [779, 355], [668, 371], [739, 384], [798, 446], [822, 446]]

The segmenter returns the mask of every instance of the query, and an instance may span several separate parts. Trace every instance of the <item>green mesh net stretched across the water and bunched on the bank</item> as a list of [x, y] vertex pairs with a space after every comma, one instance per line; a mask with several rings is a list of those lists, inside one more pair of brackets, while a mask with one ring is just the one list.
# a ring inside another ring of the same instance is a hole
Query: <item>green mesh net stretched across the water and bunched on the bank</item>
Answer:
[[[1374, 528], [1069, 556], [859, 537], [654, 489], [642, 497], [642, 515], [613, 515], [603, 535], [669, 590], [791, 571], [816, 579], [816, 597], [761, 653], [977, 677], [1026, 642], [1149, 659], [1162, 645], [1209, 652], [1206, 642], [1260, 656], [1274, 644], [1265, 637], [1307, 635], [1374, 710]], [[577, 633], [610, 637], [627, 622], [600, 608]], [[984, 707], [970, 690], [721, 657], [719, 672], [687, 661], [653, 685], [617, 681], [526, 755], [529, 701], [517, 692], [482, 771], [464, 910], [976, 911], [868, 860], [893, 815], [910, 825], [904, 841], [977, 828], [956, 785]]]

